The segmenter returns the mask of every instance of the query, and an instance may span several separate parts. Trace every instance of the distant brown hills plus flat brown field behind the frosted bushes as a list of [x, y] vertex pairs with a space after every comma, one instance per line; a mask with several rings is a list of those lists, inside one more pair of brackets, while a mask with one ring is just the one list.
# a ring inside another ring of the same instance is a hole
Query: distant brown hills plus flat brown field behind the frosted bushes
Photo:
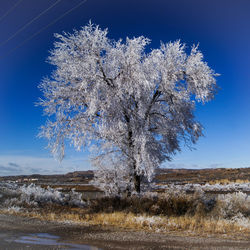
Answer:
[[[42, 187], [62, 188], [65, 191], [75, 189], [79, 192], [98, 192], [90, 184], [93, 171], [76, 171], [64, 175], [29, 175], [29, 176], [3, 176], [1, 181], [10, 181], [19, 184], [36, 183]], [[250, 183], [250, 168], [217, 168], [217, 169], [159, 169], [153, 184], [155, 189], [164, 189], [171, 184], [248, 184]], [[240, 190], [239, 190], [240, 191]]]

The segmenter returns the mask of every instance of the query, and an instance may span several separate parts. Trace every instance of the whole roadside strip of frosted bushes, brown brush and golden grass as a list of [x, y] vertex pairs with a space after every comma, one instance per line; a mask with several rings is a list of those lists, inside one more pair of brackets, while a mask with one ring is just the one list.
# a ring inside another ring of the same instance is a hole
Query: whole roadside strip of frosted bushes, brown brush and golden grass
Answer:
[[[204, 192], [197, 185], [195, 187], [192, 194], [187, 193], [187, 189], [180, 190], [177, 185], [162, 193], [144, 192], [130, 197], [103, 196], [83, 201], [81, 193], [75, 191], [63, 193], [58, 189], [34, 184], [18, 186], [5, 183], [0, 186], [0, 207], [1, 211], [28, 216], [48, 215], [52, 219], [96, 224], [98, 221], [105, 224], [104, 220], [107, 220], [106, 224], [116, 223], [119, 226], [121, 222], [116, 221], [116, 216], [127, 214], [129, 216], [125, 219], [130, 221], [134, 216], [133, 223], [137, 227], [146, 226], [156, 231], [166, 228], [202, 228], [205, 221], [206, 225], [203, 226], [209, 230], [214, 227], [214, 230], [222, 232], [222, 225], [228, 228], [233, 225], [232, 230], [250, 231], [249, 195], [243, 192], [215, 195]], [[113, 221], [114, 217], [116, 222]], [[191, 222], [192, 225], [188, 225]]]

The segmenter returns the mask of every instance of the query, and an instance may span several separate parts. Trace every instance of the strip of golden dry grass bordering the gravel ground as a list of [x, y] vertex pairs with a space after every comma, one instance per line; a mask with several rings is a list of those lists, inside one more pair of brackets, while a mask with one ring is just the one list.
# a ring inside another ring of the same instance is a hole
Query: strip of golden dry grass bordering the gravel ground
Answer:
[[112, 226], [116, 228], [153, 232], [175, 232], [187, 235], [217, 235], [223, 237], [248, 238], [250, 228], [225, 219], [201, 216], [147, 216], [114, 212], [89, 214], [81, 209], [68, 212], [17, 212], [2, 210], [2, 213], [38, 218], [46, 221], [71, 222], [83, 225]]

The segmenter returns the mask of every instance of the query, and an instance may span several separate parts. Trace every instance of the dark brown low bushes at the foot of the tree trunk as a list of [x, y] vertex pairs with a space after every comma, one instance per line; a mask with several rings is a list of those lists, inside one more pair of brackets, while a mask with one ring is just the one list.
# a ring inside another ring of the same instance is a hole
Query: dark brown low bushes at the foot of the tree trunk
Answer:
[[134, 214], [181, 216], [197, 212], [207, 214], [215, 206], [214, 198], [184, 193], [164, 195], [141, 195], [132, 197], [103, 197], [90, 201], [89, 211], [93, 213], [131, 212]]

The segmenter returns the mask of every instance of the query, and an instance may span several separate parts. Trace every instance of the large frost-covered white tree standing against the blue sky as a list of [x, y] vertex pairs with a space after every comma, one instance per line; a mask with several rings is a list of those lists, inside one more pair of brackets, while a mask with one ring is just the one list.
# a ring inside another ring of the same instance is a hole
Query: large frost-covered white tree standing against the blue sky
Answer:
[[149, 39], [114, 41], [91, 23], [56, 38], [56, 68], [40, 85], [51, 117], [41, 135], [60, 159], [67, 139], [78, 150], [96, 145], [97, 162], [120, 161], [140, 192], [143, 176], [151, 180], [182, 141], [191, 146], [202, 135], [194, 108], [213, 98], [216, 74], [197, 47], [187, 54], [180, 41], [147, 52]]

